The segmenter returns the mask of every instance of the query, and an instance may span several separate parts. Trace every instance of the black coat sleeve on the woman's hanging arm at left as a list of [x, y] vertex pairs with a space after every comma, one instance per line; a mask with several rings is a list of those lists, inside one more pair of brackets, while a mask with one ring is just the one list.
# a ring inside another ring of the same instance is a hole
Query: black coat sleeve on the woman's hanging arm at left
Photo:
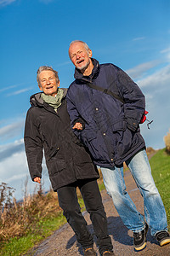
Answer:
[[42, 177], [42, 138], [31, 108], [26, 115], [24, 141], [31, 179]]

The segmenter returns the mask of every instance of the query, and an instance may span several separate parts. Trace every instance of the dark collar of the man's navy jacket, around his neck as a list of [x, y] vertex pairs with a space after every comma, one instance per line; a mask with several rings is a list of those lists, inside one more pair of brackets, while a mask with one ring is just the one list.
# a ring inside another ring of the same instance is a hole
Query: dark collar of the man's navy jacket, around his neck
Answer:
[[91, 58], [93, 64], [94, 64], [94, 68], [92, 70], [92, 73], [89, 76], [83, 76], [83, 74], [81, 73], [81, 71], [79, 69], [77, 69], [77, 67], [75, 68], [75, 74], [74, 77], [77, 80], [81, 80], [82, 82], [85, 81], [92, 81], [93, 79], [96, 79], [96, 77], [99, 74], [99, 61], [97, 61], [96, 59]]

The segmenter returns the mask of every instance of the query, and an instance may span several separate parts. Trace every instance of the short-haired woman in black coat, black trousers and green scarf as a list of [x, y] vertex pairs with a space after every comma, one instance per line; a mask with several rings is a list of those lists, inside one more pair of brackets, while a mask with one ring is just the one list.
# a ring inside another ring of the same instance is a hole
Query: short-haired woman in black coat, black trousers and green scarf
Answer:
[[94, 225], [100, 254], [114, 255], [97, 183], [99, 173], [71, 129], [66, 89], [59, 89], [58, 73], [52, 67], [39, 67], [37, 83], [42, 93], [31, 96], [25, 127], [26, 156], [31, 178], [41, 183], [44, 149], [49, 178], [54, 191], [58, 193], [59, 206], [82, 245], [84, 255], [96, 253], [93, 237], [77, 201], [77, 187]]

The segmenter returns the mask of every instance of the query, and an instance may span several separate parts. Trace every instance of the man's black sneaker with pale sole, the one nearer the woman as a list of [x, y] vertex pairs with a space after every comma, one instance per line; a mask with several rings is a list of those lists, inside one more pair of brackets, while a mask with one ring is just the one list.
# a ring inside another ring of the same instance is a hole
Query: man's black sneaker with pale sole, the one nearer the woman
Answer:
[[144, 230], [133, 232], [133, 247], [136, 251], [141, 251], [146, 247], [146, 235], [148, 232], [148, 224], [145, 224]]

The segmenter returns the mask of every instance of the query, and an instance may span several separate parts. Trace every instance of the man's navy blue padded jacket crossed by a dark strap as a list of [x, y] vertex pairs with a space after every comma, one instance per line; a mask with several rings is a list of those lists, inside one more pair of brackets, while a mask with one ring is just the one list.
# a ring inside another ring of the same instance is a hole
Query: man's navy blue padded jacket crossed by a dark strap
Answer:
[[[67, 108], [71, 125], [82, 123], [83, 130], [75, 131], [88, 147], [98, 166], [122, 165], [145, 147], [139, 122], [145, 109], [144, 95], [139, 86], [115, 65], [94, 64], [90, 76], [75, 69], [75, 81], [67, 92]], [[88, 82], [111, 90], [124, 103], [102, 91], [88, 87]]]

